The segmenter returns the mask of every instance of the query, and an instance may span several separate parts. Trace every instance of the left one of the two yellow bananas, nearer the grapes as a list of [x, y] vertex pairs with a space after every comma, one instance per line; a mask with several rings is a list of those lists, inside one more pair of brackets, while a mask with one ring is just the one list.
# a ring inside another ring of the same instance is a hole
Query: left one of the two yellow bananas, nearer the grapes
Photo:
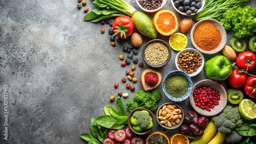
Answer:
[[206, 144], [212, 137], [214, 137], [217, 132], [217, 126], [214, 125], [214, 122], [210, 121], [207, 127], [204, 129], [204, 135], [193, 140], [190, 144]]

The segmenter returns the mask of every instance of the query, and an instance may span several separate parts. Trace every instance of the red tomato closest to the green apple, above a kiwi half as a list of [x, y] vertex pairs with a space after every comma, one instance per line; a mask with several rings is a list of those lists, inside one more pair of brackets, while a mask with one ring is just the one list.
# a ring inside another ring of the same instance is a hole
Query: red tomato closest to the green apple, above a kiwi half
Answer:
[[239, 73], [238, 69], [233, 69], [227, 80], [229, 85], [239, 88], [244, 85], [246, 78], [246, 73]]

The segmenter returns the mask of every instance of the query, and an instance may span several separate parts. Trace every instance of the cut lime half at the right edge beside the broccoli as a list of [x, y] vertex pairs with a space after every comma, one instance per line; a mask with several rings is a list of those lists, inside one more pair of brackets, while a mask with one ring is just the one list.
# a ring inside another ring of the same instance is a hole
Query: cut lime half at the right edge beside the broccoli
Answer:
[[239, 104], [239, 113], [247, 120], [256, 118], [256, 104], [250, 99], [244, 99]]

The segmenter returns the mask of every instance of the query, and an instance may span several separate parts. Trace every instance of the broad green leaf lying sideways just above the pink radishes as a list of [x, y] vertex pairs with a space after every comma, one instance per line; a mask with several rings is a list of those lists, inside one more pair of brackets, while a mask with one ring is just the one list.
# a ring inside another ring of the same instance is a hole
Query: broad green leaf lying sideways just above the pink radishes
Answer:
[[101, 115], [95, 118], [95, 122], [105, 128], [111, 128], [116, 123], [116, 118], [111, 115]]

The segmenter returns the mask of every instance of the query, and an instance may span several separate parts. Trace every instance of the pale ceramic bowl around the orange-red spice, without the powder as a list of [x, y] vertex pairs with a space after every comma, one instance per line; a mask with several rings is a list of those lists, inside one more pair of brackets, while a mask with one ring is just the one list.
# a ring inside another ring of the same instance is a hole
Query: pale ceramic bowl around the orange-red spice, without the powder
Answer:
[[[220, 45], [218, 47], [216, 47], [216, 49], [211, 50], [211, 51], [202, 50], [199, 46], [197, 46], [197, 44], [194, 41], [194, 32], [195, 32], [196, 28], [204, 22], [210, 22], [210, 23], [214, 24], [220, 30], [221, 36], [222, 36]], [[191, 32], [190, 32], [190, 39], [191, 39], [192, 44], [196, 47], [196, 49], [198, 51], [200, 51], [203, 54], [211, 55], [211, 54], [216, 54], [223, 49], [223, 47], [225, 46], [226, 41], [227, 41], [227, 33], [226, 33], [225, 28], [221, 25], [221, 23], [218, 20], [212, 19], [212, 18], [206, 18], [206, 19], [202, 19], [202, 20], [198, 21], [193, 26], [193, 28], [191, 29]]]

